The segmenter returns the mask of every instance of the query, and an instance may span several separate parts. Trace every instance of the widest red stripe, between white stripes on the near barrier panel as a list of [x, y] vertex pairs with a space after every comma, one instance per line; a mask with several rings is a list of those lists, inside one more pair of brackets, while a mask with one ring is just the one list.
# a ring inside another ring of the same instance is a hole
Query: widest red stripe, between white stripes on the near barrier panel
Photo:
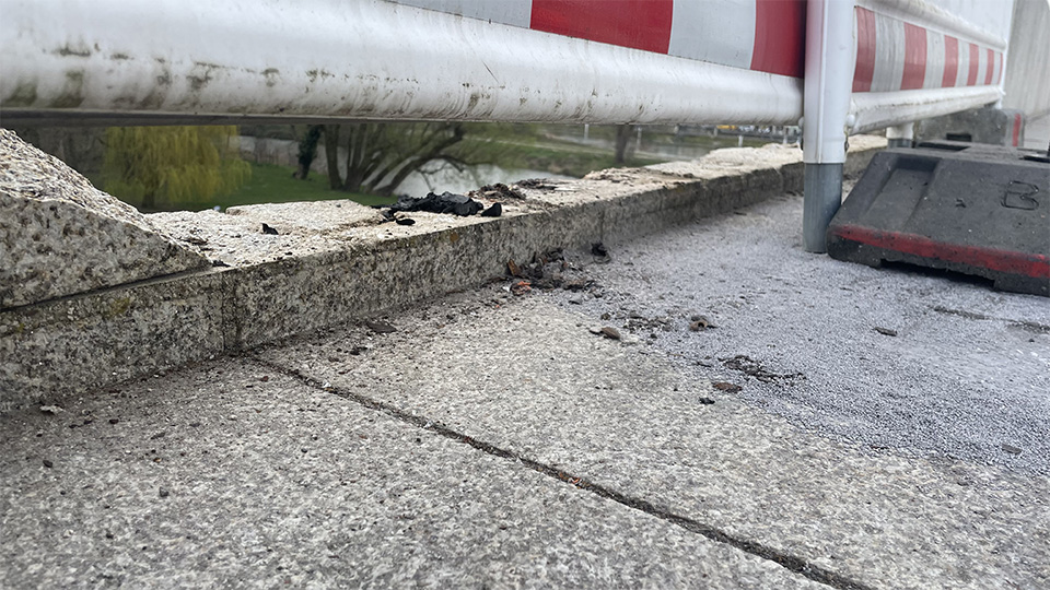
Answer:
[[533, 0], [529, 27], [666, 54], [674, 8], [674, 0]]

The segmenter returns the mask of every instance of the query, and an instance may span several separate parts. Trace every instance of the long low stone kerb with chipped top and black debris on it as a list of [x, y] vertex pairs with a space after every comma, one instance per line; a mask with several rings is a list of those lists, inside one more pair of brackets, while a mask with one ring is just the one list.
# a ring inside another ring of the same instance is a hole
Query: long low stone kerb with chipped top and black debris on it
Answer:
[[[885, 143], [852, 138], [847, 174]], [[215, 267], [0, 310], [0, 410], [469, 288], [550, 248], [615, 243], [801, 190], [802, 152], [770, 145], [523, 188], [501, 217], [411, 213], [413, 225], [377, 224], [349, 201], [148, 215]]]

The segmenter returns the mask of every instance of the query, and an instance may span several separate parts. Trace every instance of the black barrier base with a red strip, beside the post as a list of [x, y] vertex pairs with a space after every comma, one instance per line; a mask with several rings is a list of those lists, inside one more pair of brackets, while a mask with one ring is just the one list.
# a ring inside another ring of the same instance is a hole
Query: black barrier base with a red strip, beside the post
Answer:
[[1050, 163], [956, 142], [876, 154], [828, 227], [828, 253], [907, 262], [1050, 296]]

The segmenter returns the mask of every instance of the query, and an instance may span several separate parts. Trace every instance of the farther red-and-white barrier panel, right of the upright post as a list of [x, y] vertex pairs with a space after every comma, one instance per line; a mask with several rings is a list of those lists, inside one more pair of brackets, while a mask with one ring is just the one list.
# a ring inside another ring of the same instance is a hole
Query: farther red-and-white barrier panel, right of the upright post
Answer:
[[851, 131], [1001, 99], [1012, 10], [1013, 0], [856, 0]]

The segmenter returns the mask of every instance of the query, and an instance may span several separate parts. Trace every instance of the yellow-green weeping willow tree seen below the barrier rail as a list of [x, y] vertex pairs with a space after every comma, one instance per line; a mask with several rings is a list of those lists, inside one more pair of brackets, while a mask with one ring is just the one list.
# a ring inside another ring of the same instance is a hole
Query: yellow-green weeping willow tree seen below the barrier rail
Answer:
[[142, 210], [183, 209], [236, 190], [252, 175], [237, 128], [112, 127], [106, 130], [106, 192]]

